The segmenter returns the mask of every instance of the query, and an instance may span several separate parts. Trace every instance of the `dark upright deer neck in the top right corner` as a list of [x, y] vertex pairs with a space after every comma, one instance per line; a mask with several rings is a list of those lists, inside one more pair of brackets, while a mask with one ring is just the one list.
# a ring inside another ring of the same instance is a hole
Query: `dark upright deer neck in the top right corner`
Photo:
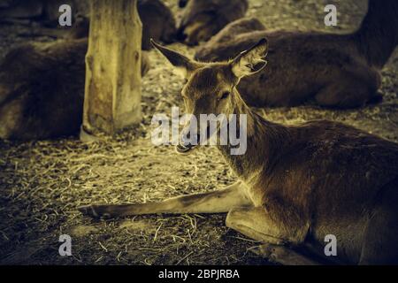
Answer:
[[370, 0], [361, 27], [354, 34], [368, 64], [381, 68], [398, 44], [398, 1]]

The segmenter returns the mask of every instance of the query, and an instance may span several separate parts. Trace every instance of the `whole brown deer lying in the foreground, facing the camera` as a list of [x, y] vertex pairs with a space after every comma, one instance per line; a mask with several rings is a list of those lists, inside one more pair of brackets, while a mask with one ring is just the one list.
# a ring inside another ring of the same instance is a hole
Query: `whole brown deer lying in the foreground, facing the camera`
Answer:
[[[226, 226], [268, 243], [264, 247], [269, 249], [260, 250], [285, 264], [289, 258], [295, 263], [311, 261], [281, 245], [309, 247], [325, 256], [328, 234], [337, 239], [335, 260], [341, 263], [398, 264], [397, 143], [338, 122], [283, 126], [257, 115], [236, 86], [266, 65], [264, 39], [220, 63], [192, 61], [154, 44], [186, 73], [181, 95], [188, 113], [247, 115], [246, 153], [231, 155], [231, 145], [218, 145], [239, 181], [161, 203], [93, 204], [81, 207], [81, 212], [91, 217], [228, 212]], [[177, 149], [188, 153], [195, 146], [181, 144]], [[291, 252], [284, 257], [287, 251]]]

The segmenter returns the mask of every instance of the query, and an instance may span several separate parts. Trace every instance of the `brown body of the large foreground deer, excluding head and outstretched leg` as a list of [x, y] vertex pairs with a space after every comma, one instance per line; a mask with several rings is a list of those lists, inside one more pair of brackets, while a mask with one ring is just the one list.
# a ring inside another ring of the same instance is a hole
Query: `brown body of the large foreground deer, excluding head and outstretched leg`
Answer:
[[[325, 256], [325, 236], [333, 234], [338, 239], [338, 259], [349, 264], [377, 262], [376, 254], [362, 257], [362, 250], [375, 248], [379, 243], [366, 238], [376, 240], [379, 233], [390, 233], [392, 242], [381, 244], [391, 245], [387, 251], [396, 249], [397, 225], [387, 223], [388, 217], [398, 220], [397, 144], [340, 123], [320, 120], [287, 127], [258, 118], [249, 109], [245, 113], [256, 119], [256, 134], [248, 138], [249, 152], [233, 157], [225, 147], [220, 150], [245, 185], [245, 195], [261, 212], [232, 210], [227, 226], [257, 241], [307, 243], [317, 247], [319, 256]], [[383, 207], [387, 201], [394, 205]], [[385, 207], [389, 216], [373, 220]], [[249, 226], [247, 219], [253, 219], [251, 229], [262, 221], [267, 226], [264, 231], [242, 231], [241, 227]], [[376, 225], [386, 228], [367, 232]], [[392, 227], [394, 232], [389, 231]], [[271, 234], [272, 239], [263, 234]]]

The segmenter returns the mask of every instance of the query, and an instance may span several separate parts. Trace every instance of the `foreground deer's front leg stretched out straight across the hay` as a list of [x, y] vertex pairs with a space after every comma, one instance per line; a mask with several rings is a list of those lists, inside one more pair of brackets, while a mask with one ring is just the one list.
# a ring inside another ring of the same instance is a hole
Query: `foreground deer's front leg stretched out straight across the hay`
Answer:
[[238, 181], [221, 190], [203, 194], [181, 195], [160, 203], [93, 204], [80, 207], [79, 210], [93, 218], [115, 218], [155, 213], [221, 213], [250, 205], [252, 203], [244, 194], [241, 181]]

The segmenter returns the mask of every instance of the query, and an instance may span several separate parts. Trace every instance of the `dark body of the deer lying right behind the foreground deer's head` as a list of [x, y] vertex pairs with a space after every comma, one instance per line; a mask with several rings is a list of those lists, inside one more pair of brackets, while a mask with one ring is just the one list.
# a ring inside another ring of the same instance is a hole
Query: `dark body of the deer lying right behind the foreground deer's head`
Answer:
[[250, 105], [294, 106], [314, 99], [322, 106], [349, 108], [379, 100], [379, 70], [356, 56], [348, 36], [279, 32], [267, 37], [273, 42], [269, 58], [278, 63], [241, 80], [239, 89]]

